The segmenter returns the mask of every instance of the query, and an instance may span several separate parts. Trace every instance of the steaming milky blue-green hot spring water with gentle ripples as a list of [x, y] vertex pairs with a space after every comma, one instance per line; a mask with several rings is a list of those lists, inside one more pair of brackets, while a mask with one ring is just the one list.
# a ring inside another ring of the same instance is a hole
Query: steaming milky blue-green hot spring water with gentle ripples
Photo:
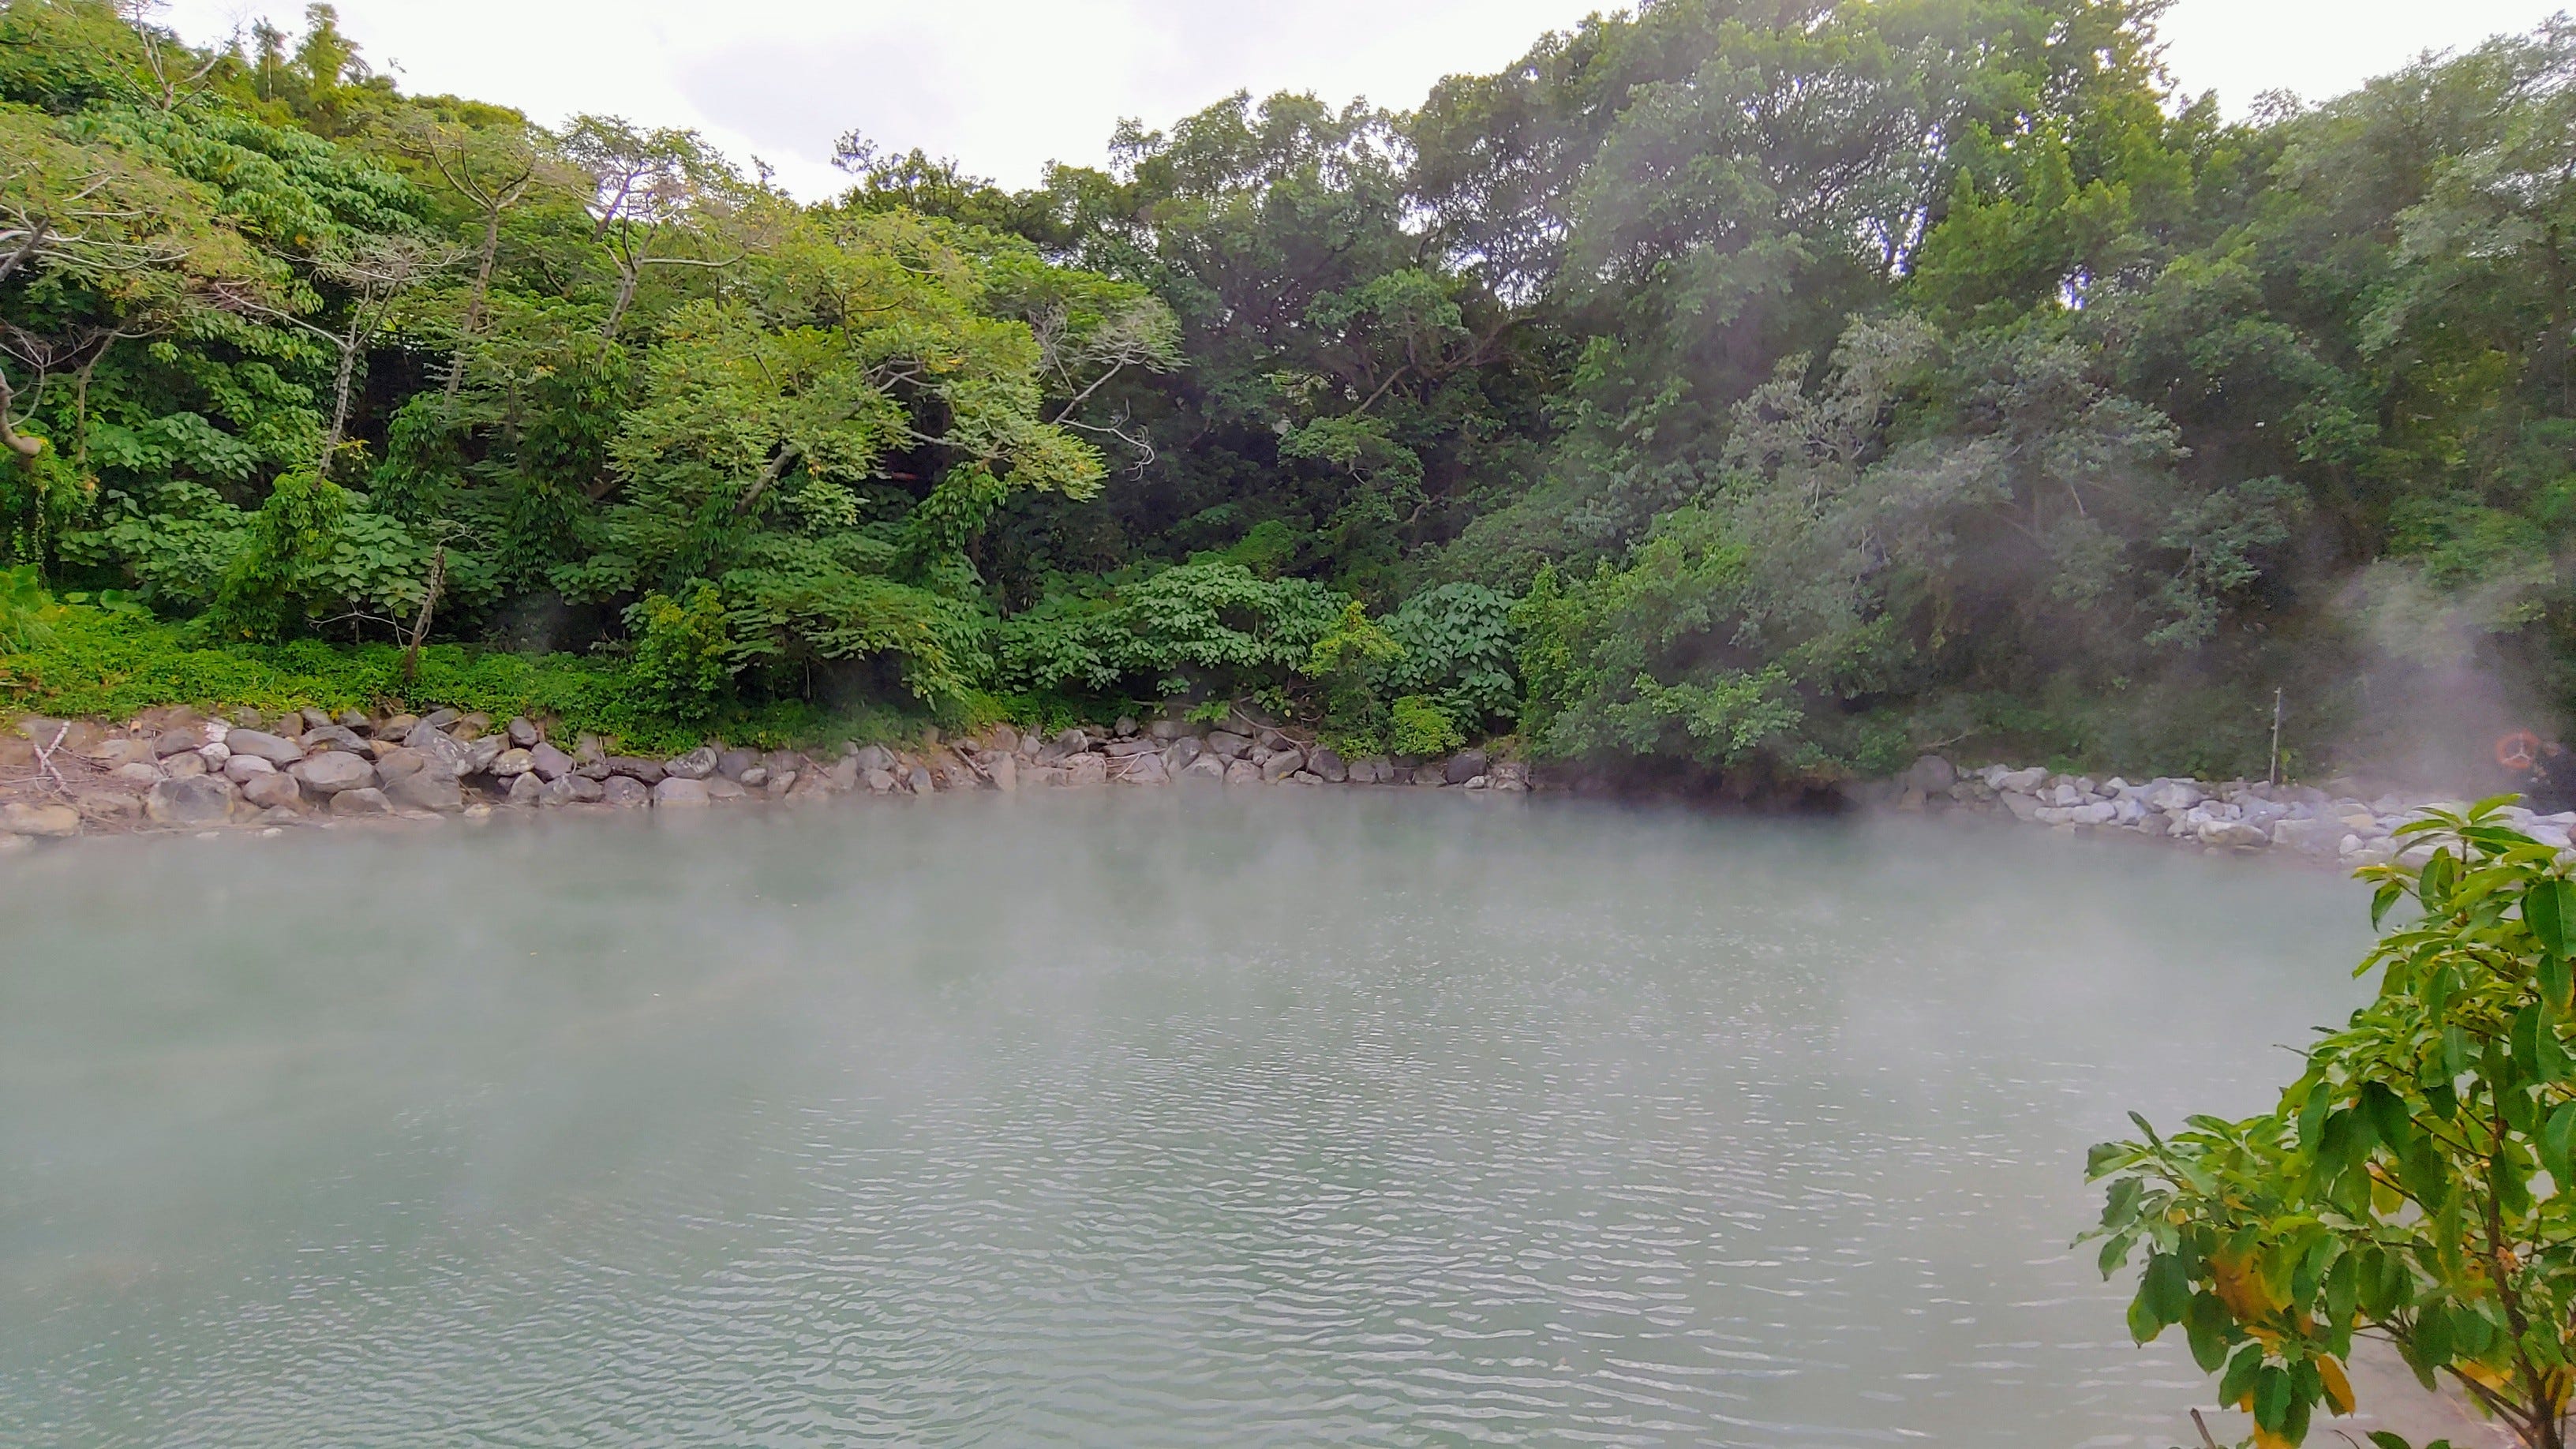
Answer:
[[2362, 887], [1942, 822], [943, 797], [0, 866], [0, 1444], [2179, 1444], [2084, 1147]]

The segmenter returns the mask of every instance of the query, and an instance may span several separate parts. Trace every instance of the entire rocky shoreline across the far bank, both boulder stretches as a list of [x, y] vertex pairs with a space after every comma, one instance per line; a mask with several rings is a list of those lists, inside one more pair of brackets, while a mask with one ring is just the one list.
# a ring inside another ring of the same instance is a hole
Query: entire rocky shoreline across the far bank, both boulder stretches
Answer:
[[[559, 743], [536, 719], [428, 714], [273, 717], [152, 709], [98, 719], [18, 719], [0, 730], [0, 851], [36, 838], [139, 830], [289, 830], [343, 820], [484, 817], [497, 810], [703, 810], [966, 789], [1079, 786], [1425, 786], [1533, 789], [1520, 761], [1461, 750], [1440, 761], [1345, 761], [1314, 737], [1236, 712], [1218, 724], [1167, 717], [1108, 730], [974, 737], [837, 753], [698, 745], [672, 758], [618, 755], [590, 735]], [[1546, 784], [1546, 781], [1538, 781]], [[2336, 781], [2342, 784], [2342, 781]], [[1958, 768], [1924, 755], [1901, 776], [1844, 792], [1865, 810], [1965, 812], [2063, 833], [2141, 835], [2228, 853], [2290, 853], [2339, 866], [2414, 861], [2398, 825], [2434, 797], [2362, 797], [2264, 781], [2146, 781], [2040, 766]], [[2568, 848], [2576, 812], [2509, 812]]]

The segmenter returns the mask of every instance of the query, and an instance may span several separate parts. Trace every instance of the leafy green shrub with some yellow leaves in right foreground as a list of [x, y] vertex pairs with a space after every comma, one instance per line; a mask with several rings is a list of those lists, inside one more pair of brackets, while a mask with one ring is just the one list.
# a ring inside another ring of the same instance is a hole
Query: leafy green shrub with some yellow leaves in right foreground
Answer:
[[2102, 1271], [2141, 1250], [2141, 1343], [2182, 1328], [2249, 1408], [2257, 1444], [2352, 1413], [2354, 1336], [2396, 1343], [2524, 1444], [2555, 1446], [2576, 1390], [2576, 882], [2504, 799], [2401, 835], [2372, 866], [2370, 1006], [2306, 1052], [2264, 1116], [2192, 1116], [2094, 1147]]

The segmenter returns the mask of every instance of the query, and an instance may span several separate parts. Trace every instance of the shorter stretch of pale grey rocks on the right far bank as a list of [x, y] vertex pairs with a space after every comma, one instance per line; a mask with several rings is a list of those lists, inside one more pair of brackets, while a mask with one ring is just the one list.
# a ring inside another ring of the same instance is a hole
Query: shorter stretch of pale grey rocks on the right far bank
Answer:
[[[2329, 781], [2349, 784], [2349, 781]], [[2125, 833], [2202, 851], [2277, 851], [2339, 866], [2424, 864], [2432, 846], [2398, 838], [2429, 807], [2465, 802], [2429, 794], [2362, 797], [2267, 781], [2197, 781], [2156, 776], [2128, 781], [1984, 766], [1960, 771], [1940, 755], [1914, 761], [1901, 776], [1855, 792], [1865, 804], [1901, 812], [1963, 810], [2066, 833]], [[2548, 846], [2568, 848], [2576, 812], [2540, 815], [2509, 807], [2506, 817]]]

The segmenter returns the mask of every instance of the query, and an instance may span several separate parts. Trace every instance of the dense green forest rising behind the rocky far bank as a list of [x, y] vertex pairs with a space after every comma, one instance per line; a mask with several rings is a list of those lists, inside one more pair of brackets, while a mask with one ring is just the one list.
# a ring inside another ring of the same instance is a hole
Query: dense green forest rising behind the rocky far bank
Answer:
[[327, 5], [129, 10], [0, 5], [23, 699], [425, 645], [737, 735], [1249, 699], [1780, 784], [2576, 688], [2571, 26], [2228, 121], [2156, 0], [1656, 0], [799, 204]]

